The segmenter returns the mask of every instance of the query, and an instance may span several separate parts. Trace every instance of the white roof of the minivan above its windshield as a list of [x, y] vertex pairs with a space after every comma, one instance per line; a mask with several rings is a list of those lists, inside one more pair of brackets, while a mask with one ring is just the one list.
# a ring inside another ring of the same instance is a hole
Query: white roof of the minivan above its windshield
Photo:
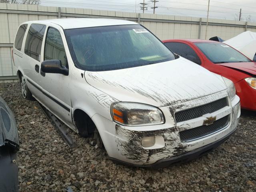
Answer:
[[111, 25], [134, 25], [136, 22], [119, 19], [101, 19], [101, 18], [63, 18], [40, 20], [45, 24], [54, 23], [60, 25], [63, 29], [111, 26]]

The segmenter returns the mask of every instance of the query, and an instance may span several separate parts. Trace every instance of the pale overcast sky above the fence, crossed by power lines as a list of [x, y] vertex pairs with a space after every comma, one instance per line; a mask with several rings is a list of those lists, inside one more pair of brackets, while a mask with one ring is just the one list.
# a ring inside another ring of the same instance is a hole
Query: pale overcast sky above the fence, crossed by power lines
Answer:
[[[41, 0], [40, 5], [88, 8], [141, 13], [143, 0]], [[153, 2], [148, 3], [145, 13], [153, 13]], [[156, 14], [207, 17], [208, 0], [158, 0]], [[242, 20], [256, 22], [256, 0], [210, 0], [209, 18], [236, 20], [242, 8]]]

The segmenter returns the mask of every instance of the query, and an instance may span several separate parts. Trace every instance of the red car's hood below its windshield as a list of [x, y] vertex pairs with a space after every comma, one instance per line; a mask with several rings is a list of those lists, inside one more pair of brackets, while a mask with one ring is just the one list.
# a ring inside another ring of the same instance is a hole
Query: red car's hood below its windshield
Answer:
[[244, 72], [256, 75], [256, 62], [220, 63], [218, 65], [242, 70]]

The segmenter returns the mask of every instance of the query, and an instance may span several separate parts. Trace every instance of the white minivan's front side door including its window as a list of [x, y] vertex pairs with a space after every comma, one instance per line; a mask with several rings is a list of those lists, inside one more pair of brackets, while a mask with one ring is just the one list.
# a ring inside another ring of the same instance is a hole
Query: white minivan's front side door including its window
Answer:
[[[63, 33], [63, 31], [62, 31]], [[66, 51], [60, 30], [49, 26], [44, 39], [43, 60], [60, 60], [68, 68]], [[44, 73], [40, 70], [41, 83], [46, 99], [44, 105], [65, 124], [72, 126], [70, 73], [68, 76], [56, 73]]]

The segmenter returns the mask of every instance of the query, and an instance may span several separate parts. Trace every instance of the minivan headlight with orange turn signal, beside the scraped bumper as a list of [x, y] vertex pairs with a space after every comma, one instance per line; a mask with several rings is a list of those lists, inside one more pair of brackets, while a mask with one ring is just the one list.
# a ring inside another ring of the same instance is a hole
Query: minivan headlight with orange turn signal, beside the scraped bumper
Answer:
[[112, 104], [111, 116], [114, 122], [127, 126], [164, 123], [164, 116], [160, 109], [132, 102], [116, 102]]

